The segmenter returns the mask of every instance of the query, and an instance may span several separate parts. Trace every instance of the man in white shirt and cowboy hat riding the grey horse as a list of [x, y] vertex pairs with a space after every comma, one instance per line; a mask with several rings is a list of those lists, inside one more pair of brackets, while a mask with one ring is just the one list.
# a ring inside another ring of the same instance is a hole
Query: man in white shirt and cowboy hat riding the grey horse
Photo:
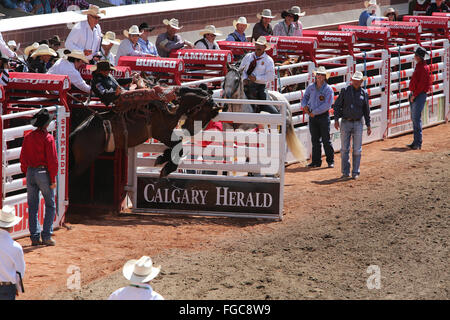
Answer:
[[[244, 91], [248, 99], [266, 100], [266, 84], [275, 78], [273, 59], [265, 52], [270, 44], [264, 36], [255, 42], [255, 52], [250, 52], [242, 59], [240, 70], [243, 70]], [[259, 105], [260, 111], [279, 113], [274, 106]]]

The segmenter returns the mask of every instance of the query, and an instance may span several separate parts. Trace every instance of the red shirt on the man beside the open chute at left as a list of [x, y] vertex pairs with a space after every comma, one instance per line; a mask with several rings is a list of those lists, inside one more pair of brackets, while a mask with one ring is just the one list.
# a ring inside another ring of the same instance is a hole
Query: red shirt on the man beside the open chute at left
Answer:
[[25, 135], [20, 152], [20, 169], [27, 173], [29, 167], [46, 166], [50, 182], [56, 182], [58, 158], [56, 156], [55, 139], [45, 129], [36, 129]]

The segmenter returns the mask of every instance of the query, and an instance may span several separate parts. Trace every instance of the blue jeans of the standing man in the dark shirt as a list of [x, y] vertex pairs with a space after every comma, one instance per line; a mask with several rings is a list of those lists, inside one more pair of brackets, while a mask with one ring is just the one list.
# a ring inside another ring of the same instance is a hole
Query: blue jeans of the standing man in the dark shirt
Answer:
[[352, 176], [359, 175], [362, 152], [363, 120], [341, 121], [341, 170], [342, 174], [350, 175], [350, 140], [353, 140], [353, 169]]

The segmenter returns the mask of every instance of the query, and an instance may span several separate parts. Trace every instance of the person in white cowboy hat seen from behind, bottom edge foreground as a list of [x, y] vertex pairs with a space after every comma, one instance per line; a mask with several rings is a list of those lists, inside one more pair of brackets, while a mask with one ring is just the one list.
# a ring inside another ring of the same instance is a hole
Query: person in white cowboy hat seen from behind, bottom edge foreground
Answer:
[[164, 300], [164, 298], [148, 284], [161, 270], [154, 267], [152, 259], [147, 256], [139, 260], [129, 260], [123, 266], [123, 276], [130, 285], [114, 291], [108, 300]]

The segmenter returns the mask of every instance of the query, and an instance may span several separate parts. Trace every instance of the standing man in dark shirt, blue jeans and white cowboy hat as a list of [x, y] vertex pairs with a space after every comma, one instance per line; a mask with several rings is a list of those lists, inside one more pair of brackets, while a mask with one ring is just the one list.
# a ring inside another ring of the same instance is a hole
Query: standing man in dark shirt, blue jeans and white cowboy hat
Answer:
[[[334, 127], [341, 130], [341, 164], [342, 177], [350, 177], [350, 140], [353, 140], [353, 179], [358, 179], [362, 152], [363, 122], [367, 126], [367, 135], [370, 136], [370, 107], [367, 91], [361, 88], [366, 77], [360, 71], [352, 76], [352, 84], [341, 90], [334, 103]], [[339, 119], [342, 118], [339, 126]]]

